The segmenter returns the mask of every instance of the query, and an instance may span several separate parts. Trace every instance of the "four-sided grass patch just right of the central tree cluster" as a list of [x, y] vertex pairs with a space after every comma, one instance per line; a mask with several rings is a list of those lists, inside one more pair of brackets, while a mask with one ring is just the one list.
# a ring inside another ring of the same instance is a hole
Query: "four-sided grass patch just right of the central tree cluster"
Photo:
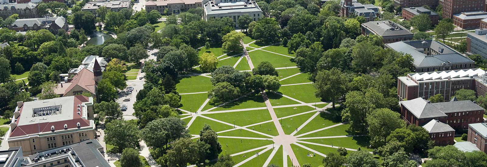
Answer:
[[[299, 91], [297, 91], [299, 90]], [[287, 95], [291, 98], [303, 101], [303, 102], [320, 102], [321, 100], [314, 96], [315, 94], [315, 87], [313, 84], [299, 84], [299, 85], [290, 85], [290, 86], [281, 86], [279, 89], [284, 95]]]

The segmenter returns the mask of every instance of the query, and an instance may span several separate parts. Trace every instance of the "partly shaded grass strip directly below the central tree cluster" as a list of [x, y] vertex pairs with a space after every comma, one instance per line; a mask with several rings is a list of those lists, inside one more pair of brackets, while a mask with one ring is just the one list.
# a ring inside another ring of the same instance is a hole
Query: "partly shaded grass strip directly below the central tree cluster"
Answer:
[[[210, 100], [208, 104], [206, 104], [205, 108], [203, 108], [203, 111], [206, 111], [207, 109], [210, 109], [212, 107], [216, 107], [219, 104], [221, 103], [214, 103], [213, 101]], [[224, 106], [215, 108], [211, 111], [235, 110], [235, 109], [256, 108], [256, 107], [265, 107], [264, 99], [262, 99], [261, 95], [248, 95], [244, 98], [230, 102], [228, 104], [225, 104]]]

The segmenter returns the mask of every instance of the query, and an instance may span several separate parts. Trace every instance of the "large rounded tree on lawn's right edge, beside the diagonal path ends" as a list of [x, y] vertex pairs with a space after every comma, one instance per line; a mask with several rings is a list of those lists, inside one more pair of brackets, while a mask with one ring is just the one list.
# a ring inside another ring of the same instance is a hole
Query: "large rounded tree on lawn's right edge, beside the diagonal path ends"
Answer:
[[315, 80], [313, 83], [316, 89], [315, 96], [322, 100], [332, 101], [333, 108], [335, 108], [335, 102], [348, 91], [347, 77], [335, 67], [331, 70], [319, 71]]

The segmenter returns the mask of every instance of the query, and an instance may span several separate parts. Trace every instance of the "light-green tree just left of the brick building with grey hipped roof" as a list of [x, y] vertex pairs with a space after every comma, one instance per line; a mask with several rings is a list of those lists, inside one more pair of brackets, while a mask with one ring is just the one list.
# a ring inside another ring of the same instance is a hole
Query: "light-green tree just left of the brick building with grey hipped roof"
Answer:
[[[367, 115], [368, 132], [370, 144], [377, 148], [386, 144], [386, 138], [397, 128], [404, 128], [406, 124], [397, 112], [390, 109], [380, 108]], [[387, 121], [384, 121], [387, 120]]]

